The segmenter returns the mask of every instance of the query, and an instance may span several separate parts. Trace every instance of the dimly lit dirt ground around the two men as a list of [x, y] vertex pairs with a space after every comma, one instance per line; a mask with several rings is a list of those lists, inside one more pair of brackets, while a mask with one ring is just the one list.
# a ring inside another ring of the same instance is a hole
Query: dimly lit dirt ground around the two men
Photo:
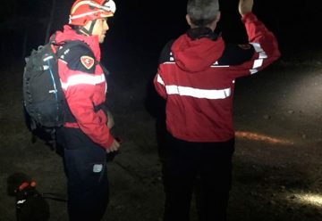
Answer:
[[[309, 59], [282, 57], [267, 70], [236, 81], [230, 221], [322, 220], [321, 61], [321, 53]], [[155, 119], [144, 105], [156, 66], [151, 62], [140, 69], [138, 62], [139, 58], [127, 67], [135, 78], [119, 65], [110, 83], [123, 145], [108, 164], [111, 194], [106, 221], [162, 220], [165, 196]], [[6, 194], [6, 178], [14, 172], [33, 177], [39, 192], [66, 196], [62, 160], [45, 143], [31, 143], [24, 125], [21, 70], [21, 65], [14, 65], [1, 70], [0, 76], [1, 221], [15, 220], [14, 198]], [[140, 76], [141, 72], [147, 74]], [[50, 220], [67, 220], [64, 202], [47, 201]], [[192, 221], [197, 220], [195, 204]]]

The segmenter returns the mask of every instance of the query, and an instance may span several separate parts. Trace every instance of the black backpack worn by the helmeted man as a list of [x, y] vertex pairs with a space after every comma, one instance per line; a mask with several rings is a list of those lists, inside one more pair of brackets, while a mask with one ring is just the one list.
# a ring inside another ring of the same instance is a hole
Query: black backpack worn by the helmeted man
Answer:
[[[55, 130], [64, 125], [68, 110], [58, 75], [57, 60], [66, 49], [74, 45], [86, 45], [81, 41], [67, 41], [57, 45], [54, 37], [46, 45], [32, 50], [30, 56], [25, 58], [22, 81], [27, 127], [33, 135], [49, 144], [55, 143]], [[53, 51], [54, 47], [56, 52]], [[33, 136], [34, 141], [35, 138]]]

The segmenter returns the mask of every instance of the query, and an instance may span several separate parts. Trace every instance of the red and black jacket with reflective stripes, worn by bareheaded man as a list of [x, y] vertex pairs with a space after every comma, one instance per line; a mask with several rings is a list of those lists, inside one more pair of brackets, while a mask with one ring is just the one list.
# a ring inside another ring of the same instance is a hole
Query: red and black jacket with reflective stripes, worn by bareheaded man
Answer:
[[154, 83], [166, 99], [166, 128], [174, 137], [190, 142], [233, 138], [235, 78], [255, 74], [280, 56], [274, 34], [253, 13], [242, 21], [248, 45], [225, 44], [211, 29], [190, 29], [165, 45]]

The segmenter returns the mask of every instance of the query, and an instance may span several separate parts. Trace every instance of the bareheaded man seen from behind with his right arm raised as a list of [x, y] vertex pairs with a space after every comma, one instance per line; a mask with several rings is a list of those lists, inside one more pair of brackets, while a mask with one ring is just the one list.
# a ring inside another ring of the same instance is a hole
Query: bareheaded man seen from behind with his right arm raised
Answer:
[[276, 61], [274, 34], [240, 0], [249, 44], [232, 45], [215, 32], [218, 0], [189, 0], [191, 29], [165, 45], [154, 84], [165, 99], [165, 221], [188, 221], [195, 180], [200, 220], [224, 221], [232, 185], [233, 91], [236, 78]]

